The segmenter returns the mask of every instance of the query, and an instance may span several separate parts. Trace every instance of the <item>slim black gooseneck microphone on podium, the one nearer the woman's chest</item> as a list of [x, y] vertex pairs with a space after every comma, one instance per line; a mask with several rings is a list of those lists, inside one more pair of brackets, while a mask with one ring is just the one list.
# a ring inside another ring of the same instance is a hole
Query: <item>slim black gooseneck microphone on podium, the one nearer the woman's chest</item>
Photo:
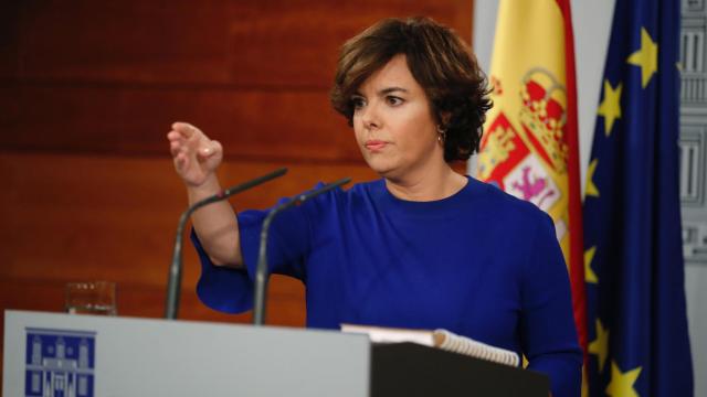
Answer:
[[263, 221], [263, 229], [261, 230], [261, 247], [257, 255], [257, 268], [255, 269], [255, 292], [253, 296], [254, 305], [253, 305], [253, 324], [254, 325], [264, 325], [265, 324], [265, 290], [267, 289], [267, 232], [270, 230], [270, 225], [273, 222], [273, 218], [279, 214], [281, 212], [306, 202], [309, 198], [318, 196], [321, 193], [326, 193], [335, 187], [347, 184], [351, 182], [350, 178], [345, 178], [338, 180], [336, 182], [331, 182], [327, 185], [324, 185], [319, 189], [313, 190], [309, 193], [304, 193], [297, 195], [289, 200], [288, 202], [282, 203], [281, 205], [273, 208], [270, 214]]

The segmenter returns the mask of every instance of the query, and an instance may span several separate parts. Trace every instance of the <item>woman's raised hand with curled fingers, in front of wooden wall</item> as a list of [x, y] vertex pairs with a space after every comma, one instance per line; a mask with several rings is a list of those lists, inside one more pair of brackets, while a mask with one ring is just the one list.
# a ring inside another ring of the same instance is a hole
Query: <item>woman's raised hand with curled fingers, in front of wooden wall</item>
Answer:
[[200, 187], [223, 160], [221, 143], [209, 139], [200, 129], [187, 124], [175, 122], [167, 133], [175, 170], [188, 187]]

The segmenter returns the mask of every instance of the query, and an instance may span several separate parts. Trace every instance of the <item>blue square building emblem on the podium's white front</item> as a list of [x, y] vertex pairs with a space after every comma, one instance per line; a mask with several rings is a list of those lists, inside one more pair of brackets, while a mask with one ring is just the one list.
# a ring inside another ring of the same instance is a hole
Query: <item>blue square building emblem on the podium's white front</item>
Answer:
[[93, 397], [96, 333], [27, 329], [24, 395]]

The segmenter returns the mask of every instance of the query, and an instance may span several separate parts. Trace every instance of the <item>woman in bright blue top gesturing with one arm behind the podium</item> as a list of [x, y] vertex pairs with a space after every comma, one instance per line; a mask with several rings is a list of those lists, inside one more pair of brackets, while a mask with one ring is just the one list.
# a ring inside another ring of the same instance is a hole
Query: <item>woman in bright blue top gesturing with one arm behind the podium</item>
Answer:
[[[306, 283], [308, 326], [447, 329], [525, 354], [555, 396], [578, 395], [582, 356], [551, 219], [450, 167], [478, 150], [487, 94], [469, 50], [430, 19], [384, 20], [349, 40], [331, 103], [382, 179], [283, 213], [271, 271]], [[221, 146], [172, 129], [190, 202], [220, 191]], [[265, 215], [235, 216], [228, 203], [194, 213], [205, 304], [251, 309]]]

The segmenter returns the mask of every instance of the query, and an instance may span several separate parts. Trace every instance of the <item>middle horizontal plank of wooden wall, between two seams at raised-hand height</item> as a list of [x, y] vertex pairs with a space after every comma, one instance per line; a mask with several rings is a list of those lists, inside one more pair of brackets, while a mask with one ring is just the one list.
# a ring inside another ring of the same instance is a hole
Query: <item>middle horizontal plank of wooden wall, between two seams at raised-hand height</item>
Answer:
[[320, 92], [13, 86], [0, 106], [6, 149], [165, 155], [171, 124], [188, 120], [233, 159], [361, 161]]

